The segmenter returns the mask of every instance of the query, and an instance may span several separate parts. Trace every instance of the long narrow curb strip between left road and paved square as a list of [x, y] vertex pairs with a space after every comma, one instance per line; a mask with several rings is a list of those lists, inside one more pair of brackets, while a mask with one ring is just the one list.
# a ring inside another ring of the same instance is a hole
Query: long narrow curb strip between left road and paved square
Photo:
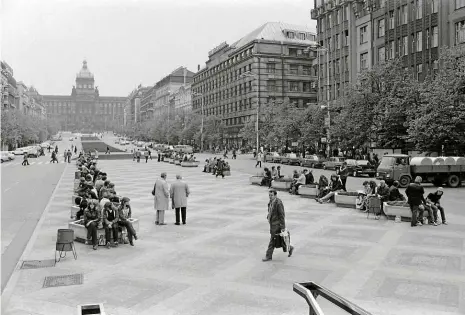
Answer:
[[27, 242], [26, 248], [24, 249], [21, 257], [18, 260], [18, 263], [16, 264], [16, 267], [15, 267], [13, 273], [11, 274], [10, 279], [8, 280], [5, 288], [3, 289], [2, 303], [1, 303], [2, 304], [2, 308], [1, 308], [2, 313], [4, 313], [6, 311], [7, 306], [9, 304], [9, 302], [10, 302], [11, 295], [13, 294], [14, 289], [16, 287], [16, 283], [19, 280], [19, 275], [20, 275], [20, 272], [21, 272], [21, 270], [19, 268], [21, 267], [21, 264], [25, 260], [25, 258], [27, 256], [29, 256], [29, 254], [31, 253], [31, 251], [32, 251], [32, 249], [34, 247], [34, 244], [35, 244], [36, 239], [38, 237], [39, 231], [40, 231], [40, 229], [42, 227], [42, 224], [43, 224], [43, 222], [45, 220], [45, 217], [47, 216], [48, 211], [50, 209], [50, 206], [52, 204], [52, 200], [55, 198], [55, 194], [57, 192], [57, 187], [59, 187], [61, 185], [61, 182], [63, 181], [63, 177], [64, 177], [64, 175], [66, 173], [66, 170], [67, 170], [68, 166], [69, 166], [69, 163], [66, 163], [65, 168], [63, 170], [63, 173], [61, 174], [60, 179], [58, 180], [58, 183], [56, 184], [55, 188], [53, 189], [52, 195], [50, 196], [50, 199], [48, 200], [48, 203], [45, 206], [44, 212], [42, 212], [42, 216], [40, 217], [39, 221], [37, 222], [37, 225], [36, 225], [34, 231], [32, 232], [31, 238]]

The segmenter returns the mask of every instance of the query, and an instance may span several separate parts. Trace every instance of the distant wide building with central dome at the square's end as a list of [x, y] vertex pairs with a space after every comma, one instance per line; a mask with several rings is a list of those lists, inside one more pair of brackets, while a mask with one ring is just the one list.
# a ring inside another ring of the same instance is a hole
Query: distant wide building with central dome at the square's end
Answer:
[[126, 97], [100, 96], [94, 75], [84, 60], [76, 75], [71, 95], [43, 95], [49, 119], [57, 120], [63, 130], [103, 131], [121, 126]]

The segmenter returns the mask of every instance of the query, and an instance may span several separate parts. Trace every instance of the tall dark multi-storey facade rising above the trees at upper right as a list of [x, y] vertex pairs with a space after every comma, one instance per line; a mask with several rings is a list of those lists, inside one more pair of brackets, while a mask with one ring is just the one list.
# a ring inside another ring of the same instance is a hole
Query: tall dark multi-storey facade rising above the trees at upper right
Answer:
[[401, 57], [422, 80], [439, 49], [465, 43], [465, 0], [314, 0], [318, 100], [344, 105], [344, 90], [364, 69]]

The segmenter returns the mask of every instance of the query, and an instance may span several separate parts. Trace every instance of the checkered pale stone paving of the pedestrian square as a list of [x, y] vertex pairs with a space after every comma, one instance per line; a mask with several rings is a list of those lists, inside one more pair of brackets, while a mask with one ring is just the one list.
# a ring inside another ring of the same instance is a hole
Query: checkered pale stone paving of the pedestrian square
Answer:
[[[21, 270], [5, 314], [72, 314], [104, 303], [108, 314], [307, 314], [294, 282], [314, 281], [373, 314], [456, 315], [465, 312], [465, 222], [410, 228], [354, 209], [320, 205], [279, 192], [291, 258], [261, 258], [269, 240], [268, 194], [248, 175], [215, 178], [202, 168], [155, 160], [100, 161], [118, 194], [140, 219], [135, 246], [76, 244], [78, 260]], [[69, 219], [74, 165], [69, 165], [27, 259], [53, 257], [56, 230]], [[154, 225], [151, 191], [161, 172], [189, 184], [187, 225]], [[84, 284], [42, 289], [45, 276], [84, 274]], [[325, 308], [323, 308], [325, 310]], [[330, 310], [327, 313], [331, 313]], [[339, 314], [339, 313], [336, 313]]]

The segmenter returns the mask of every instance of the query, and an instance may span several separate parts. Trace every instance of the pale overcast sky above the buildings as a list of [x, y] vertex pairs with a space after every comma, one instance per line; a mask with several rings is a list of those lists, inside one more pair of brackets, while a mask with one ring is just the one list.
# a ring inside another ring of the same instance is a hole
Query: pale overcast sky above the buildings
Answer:
[[40, 94], [69, 95], [84, 58], [102, 96], [127, 96], [266, 22], [309, 25], [313, 0], [2, 0], [1, 58]]

